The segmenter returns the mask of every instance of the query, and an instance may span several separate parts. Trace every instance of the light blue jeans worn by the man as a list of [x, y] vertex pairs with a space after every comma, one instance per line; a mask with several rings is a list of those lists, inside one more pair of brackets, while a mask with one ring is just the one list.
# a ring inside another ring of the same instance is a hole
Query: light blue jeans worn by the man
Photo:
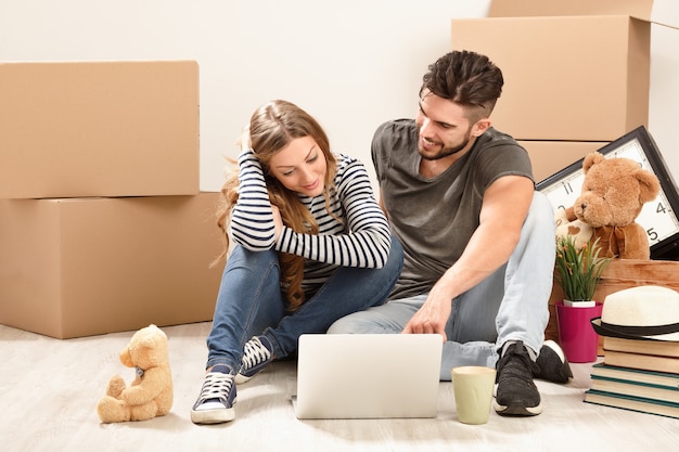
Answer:
[[[440, 379], [449, 380], [450, 370], [459, 365], [495, 366], [508, 340], [523, 340], [537, 354], [549, 320], [553, 271], [554, 214], [547, 197], [536, 192], [508, 262], [451, 300]], [[340, 319], [328, 333], [400, 333], [426, 297], [395, 299], [357, 312]]]

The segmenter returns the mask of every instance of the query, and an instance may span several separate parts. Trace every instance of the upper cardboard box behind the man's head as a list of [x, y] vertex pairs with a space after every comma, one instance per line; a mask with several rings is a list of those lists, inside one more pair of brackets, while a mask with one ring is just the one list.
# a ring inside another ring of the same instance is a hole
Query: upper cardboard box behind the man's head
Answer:
[[[515, 2], [521, 3], [521, 2]], [[453, 49], [490, 57], [495, 127], [518, 140], [613, 141], [648, 126], [649, 22], [629, 15], [452, 20]]]

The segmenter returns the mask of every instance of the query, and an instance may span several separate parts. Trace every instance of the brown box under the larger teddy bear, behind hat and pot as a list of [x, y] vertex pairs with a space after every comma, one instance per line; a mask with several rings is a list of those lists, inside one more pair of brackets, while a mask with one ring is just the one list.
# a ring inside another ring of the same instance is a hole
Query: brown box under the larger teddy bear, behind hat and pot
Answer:
[[[679, 292], [679, 262], [670, 260], [613, 259], [604, 270], [597, 286], [593, 299], [604, 302], [607, 295], [625, 288], [641, 285], [659, 285]], [[563, 289], [554, 283], [549, 299], [550, 318], [545, 338], [559, 341], [556, 309], [554, 304], [563, 300]], [[602, 353], [603, 338], [599, 338], [599, 354]]]

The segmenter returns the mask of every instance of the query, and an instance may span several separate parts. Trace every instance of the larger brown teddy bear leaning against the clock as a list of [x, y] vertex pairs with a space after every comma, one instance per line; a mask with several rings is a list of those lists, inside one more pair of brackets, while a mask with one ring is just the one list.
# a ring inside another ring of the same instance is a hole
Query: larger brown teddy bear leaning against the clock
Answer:
[[598, 152], [585, 157], [582, 169], [580, 195], [556, 214], [556, 235], [572, 235], [576, 245], [598, 240], [601, 257], [650, 259], [649, 237], [636, 220], [659, 193], [658, 179], [631, 158]]

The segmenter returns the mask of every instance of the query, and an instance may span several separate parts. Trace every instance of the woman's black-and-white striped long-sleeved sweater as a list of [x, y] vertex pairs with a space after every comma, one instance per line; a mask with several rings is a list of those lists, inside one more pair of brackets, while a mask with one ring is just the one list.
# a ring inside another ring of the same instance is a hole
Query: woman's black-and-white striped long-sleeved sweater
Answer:
[[320, 195], [299, 195], [319, 225], [318, 234], [287, 227], [274, 241], [271, 204], [264, 171], [252, 151], [239, 156], [239, 199], [231, 214], [233, 241], [252, 251], [276, 249], [305, 258], [303, 289], [315, 292], [338, 267], [382, 268], [387, 260], [390, 232], [376, 203], [366, 167], [356, 158], [337, 155], [336, 190], [330, 210]]

